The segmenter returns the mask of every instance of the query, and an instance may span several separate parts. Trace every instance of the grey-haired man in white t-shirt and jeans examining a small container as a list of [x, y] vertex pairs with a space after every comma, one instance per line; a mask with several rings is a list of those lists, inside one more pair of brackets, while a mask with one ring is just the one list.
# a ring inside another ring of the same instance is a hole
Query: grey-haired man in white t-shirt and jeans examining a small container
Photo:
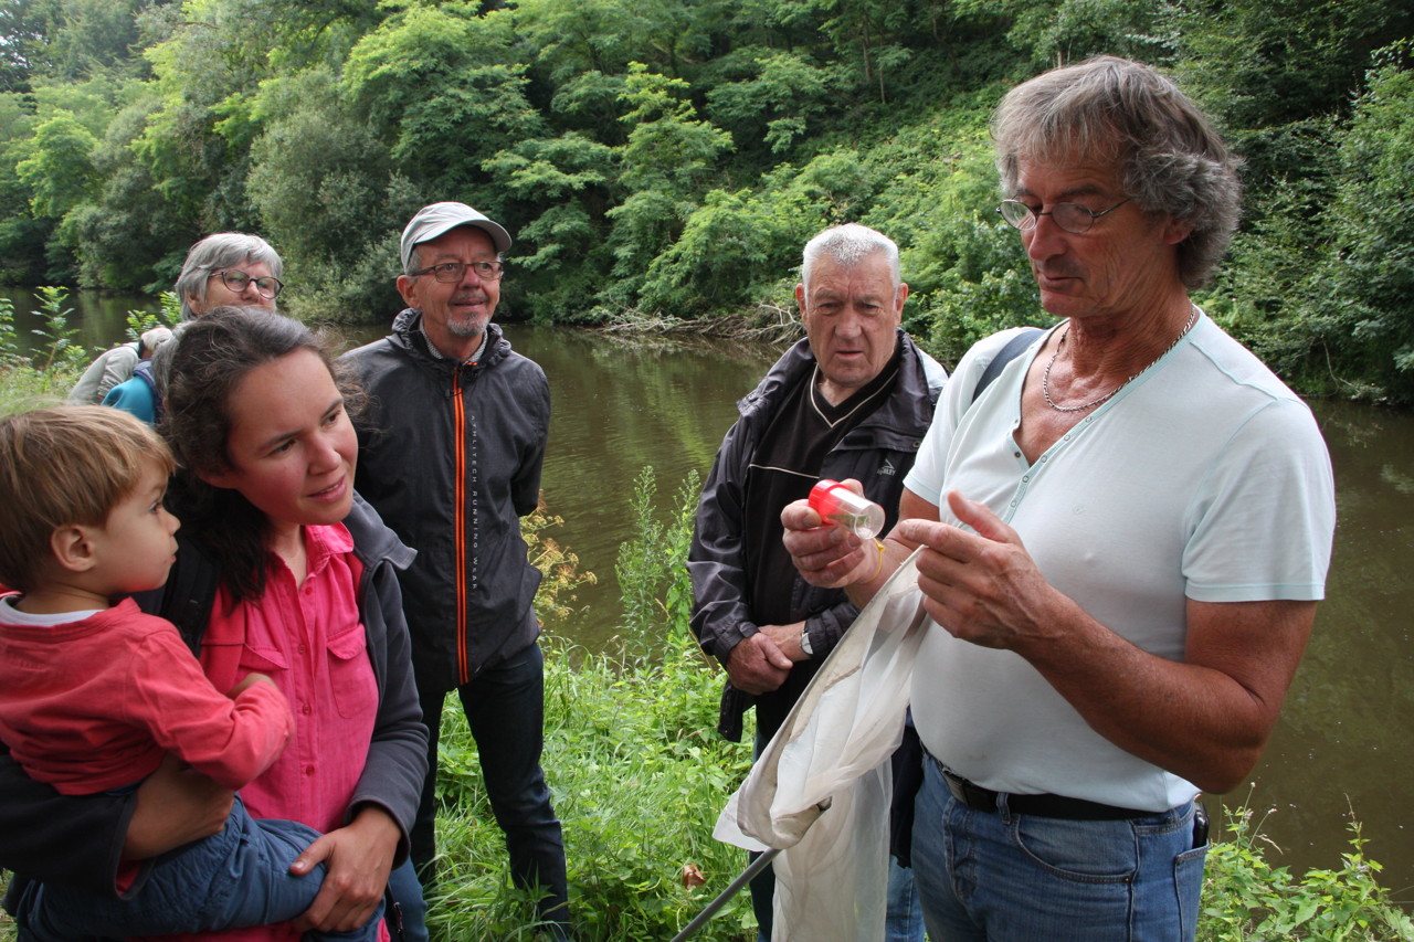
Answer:
[[802, 576], [864, 604], [915, 547], [936, 622], [913, 868], [929, 936], [1192, 939], [1199, 792], [1244, 781], [1324, 595], [1329, 455], [1307, 406], [1189, 300], [1237, 158], [1147, 66], [1099, 58], [993, 117], [1042, 307], [973, 402], [963, 356], [878, 553], [786, 508]]

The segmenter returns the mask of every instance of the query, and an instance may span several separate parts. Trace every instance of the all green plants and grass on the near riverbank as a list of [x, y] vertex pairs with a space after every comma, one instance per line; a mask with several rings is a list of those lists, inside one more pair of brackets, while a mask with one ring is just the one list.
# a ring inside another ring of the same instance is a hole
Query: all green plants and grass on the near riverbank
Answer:
[[[0, 368], [0, 410], [40, 390], [62, 395], [72, 378]], [[590, 653], [573, 642], [575, 590], [590, 574], [554, 545], [551, 509], [525, 528], [546, 577], [537, 598], [549, 652], [544, 765], [564, 822], [583, 942], [669, 939], [745, 867], [744, 853], [711, 839], [751, 754], [717, 735], [721, 673], [687, 629], [684, 560], [699, 482], [660, 496], [653, 479], [646, 470], [636, 482], [635, 536], [621, 547], [614, 573], [624, 598], [615, 652]], [[534, 907], [509, 883], [475, 744], [460, 710], [450, 707], [443, 724], [433, 939], [530, 942]], [[1365, 856], [1353, 820], [1350, 833], [1339, 860], [1298, 876], [1271, 863], [1275, 849], [1261, 836], [1260, 816], [1230, 815], [1215, 826], [1198, 939], [1414, 942], [1414, 921], [1380, 885], [1380, 864]], [[728, 902], [694, 938], [754, 939], [748, 897]], [[0, 942], [14, 942], [3, 914]]]

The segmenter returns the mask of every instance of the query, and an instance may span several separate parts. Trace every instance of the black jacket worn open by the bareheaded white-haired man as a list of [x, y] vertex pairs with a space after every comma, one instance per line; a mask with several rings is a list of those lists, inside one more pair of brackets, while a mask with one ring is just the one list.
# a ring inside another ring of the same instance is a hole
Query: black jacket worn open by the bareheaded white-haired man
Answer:
[[[933, 420], [933, 406], [947, 380], [947, 372], [933, 358], [906, 334], [899, 334], [904, 349], [892, 396], [844, 436], [820, 470], [823, 478], [858, 479], [865, 495], [884, 508], [888, 516], [885, 532], [898, 516], [904, 475], [913, 467], [923, 433]], [[783, 395], [796, 383], [809, 382], [813, 369], [814, 355], [803, 339], [776, 361], [756, 389], [737, 403], [741, 417], [727, 430], [703, 485], [687, 557], [694, 597], [691, 628], [703, 651], [723, 663], [738, 642], [758, 631], [747, 605], [751, 576], [742, 553], [747, 467]], [[793, 702], [820, 661], [839, 644], [858, 608], [843, 590], [816, 588], [799, 577], [789, 591], [790, 620], [805, 620], [814, 656], [792, 668], [786, 686], [766, 697]], [[740, 740], [741, 719], [752, 702], [728, 682], [718, 731], [730, 740]], [[778, 706], [789, 709], [789, 703]]]

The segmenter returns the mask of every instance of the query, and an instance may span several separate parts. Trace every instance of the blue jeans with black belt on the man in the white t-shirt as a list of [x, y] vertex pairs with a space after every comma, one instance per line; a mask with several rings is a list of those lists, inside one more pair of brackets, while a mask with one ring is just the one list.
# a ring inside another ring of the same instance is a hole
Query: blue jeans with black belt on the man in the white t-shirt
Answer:
[[913, 873], [933, 942], [1192, 939], [1206, 843], [1193, 803], [1130, 820], [971, 810], [926, 762]]

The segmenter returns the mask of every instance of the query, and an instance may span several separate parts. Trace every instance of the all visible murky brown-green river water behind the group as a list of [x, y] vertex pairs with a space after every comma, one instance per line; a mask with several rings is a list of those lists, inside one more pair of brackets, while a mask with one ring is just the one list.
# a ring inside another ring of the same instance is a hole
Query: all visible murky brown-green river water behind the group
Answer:
[[[79, 304], [74, 304], [81, 307]], [[139, 303], [85, 301], [83, 342], [122, 338]], [[18, 306], [17, 306], [18, 307]], [[90, 314], [92, 311], [92, 314]], [[21, 331], [33, 318], [17, 311]], [[510, 324], [512, 345], [550, 378], [554, 420], [544, 499], [564, 525], [547, 535], [575, 552], [597, 586], [563, 634], [607, 649], [618, 634], [618, 546], [632, 536], [629, 498], [653, 468], [663, 509], [689, 474], [706, 475], [723, 433], [773, 352], [741, 344], [631, 344], [597, 332]], [[349, 341], [376, 337], [351, 331]], [[1312, 403], [1335, 464], [1339, 528], [1326, 601], [1251, 786], [1223, 796], [1263, 818], [1273, 866], [1336, 868], [1353, 810], [1384, 866], [1383, 885], [1414, 904], [1414, 416]]]

